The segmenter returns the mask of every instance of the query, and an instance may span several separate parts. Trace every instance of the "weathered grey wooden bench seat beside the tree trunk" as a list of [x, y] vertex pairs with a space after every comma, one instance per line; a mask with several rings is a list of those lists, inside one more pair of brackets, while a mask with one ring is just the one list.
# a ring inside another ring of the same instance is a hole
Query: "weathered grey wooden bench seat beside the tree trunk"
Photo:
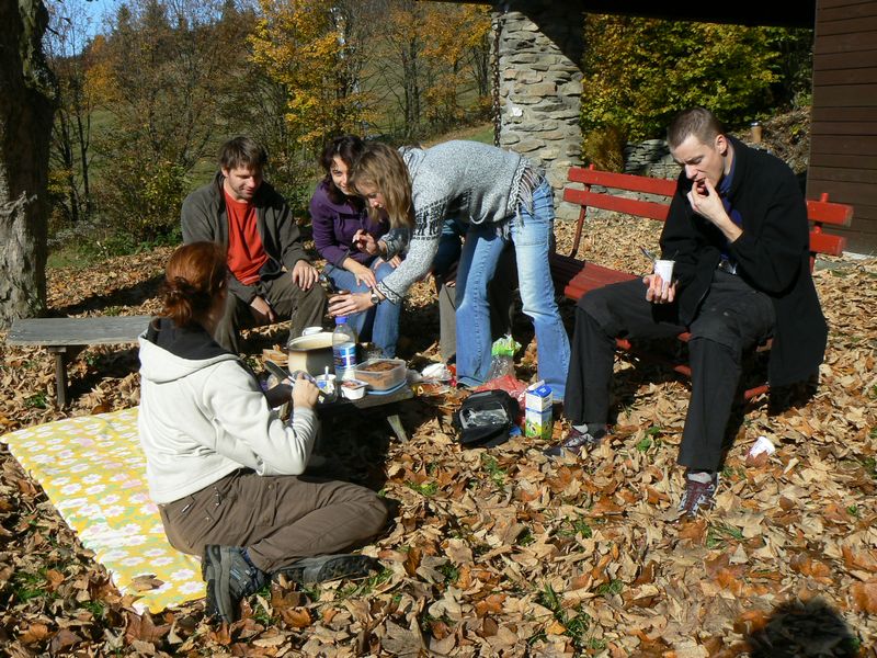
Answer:
[[137, 342], [150, 316], [25, 318], [12, 320], [10, 345], [103, 345]]

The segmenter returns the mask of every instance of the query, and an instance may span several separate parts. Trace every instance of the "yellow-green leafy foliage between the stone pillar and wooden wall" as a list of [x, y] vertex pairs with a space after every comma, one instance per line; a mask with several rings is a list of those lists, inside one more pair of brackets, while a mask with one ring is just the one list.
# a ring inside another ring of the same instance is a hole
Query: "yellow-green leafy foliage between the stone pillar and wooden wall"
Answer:
[[676, 112], [694, 105], [731, 125], [751, 121], [775, 105], [775, 44], [783, 32], [589, 14], [582, 128], [656, 137]]

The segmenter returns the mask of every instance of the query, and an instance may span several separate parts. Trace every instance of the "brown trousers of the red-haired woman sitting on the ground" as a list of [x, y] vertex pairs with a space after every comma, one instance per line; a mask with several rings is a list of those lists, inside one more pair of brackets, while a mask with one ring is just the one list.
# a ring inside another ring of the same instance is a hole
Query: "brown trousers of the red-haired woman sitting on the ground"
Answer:
[[246, 546], [269, 574], [301, 557], [364, 543], [387, 521], [386, 506], [365, 487], [247, 469], [159, 509], [178, 551], [204, 555], [207, 544]]

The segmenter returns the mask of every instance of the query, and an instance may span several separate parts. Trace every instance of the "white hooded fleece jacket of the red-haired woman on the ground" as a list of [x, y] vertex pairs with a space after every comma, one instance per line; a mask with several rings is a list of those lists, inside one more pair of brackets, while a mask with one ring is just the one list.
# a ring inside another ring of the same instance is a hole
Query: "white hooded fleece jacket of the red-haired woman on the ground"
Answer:
[[178, 500], [243, 467], [260, 475], [305, 470], [317, 435], [311, 409], [297, 410], [286, 426], [237, 356], [214, 344], [214, 355], [186, 359], [149, 333], [139, 338], [138, 424], [156, 502]]

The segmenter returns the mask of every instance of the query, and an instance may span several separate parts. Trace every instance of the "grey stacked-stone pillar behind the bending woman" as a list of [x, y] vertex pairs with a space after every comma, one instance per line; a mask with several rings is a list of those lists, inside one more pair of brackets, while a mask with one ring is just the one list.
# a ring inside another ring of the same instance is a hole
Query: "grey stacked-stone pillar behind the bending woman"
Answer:
[[[563, 3], [503, 3], [493, 12], [498, 48], [499, 146], [545, 168], [558, 218], [574, 219], [561, 202], [570, 166], [581, 164], [583, 22]], [[547, 7], [546, 7], [547, 5]]]

